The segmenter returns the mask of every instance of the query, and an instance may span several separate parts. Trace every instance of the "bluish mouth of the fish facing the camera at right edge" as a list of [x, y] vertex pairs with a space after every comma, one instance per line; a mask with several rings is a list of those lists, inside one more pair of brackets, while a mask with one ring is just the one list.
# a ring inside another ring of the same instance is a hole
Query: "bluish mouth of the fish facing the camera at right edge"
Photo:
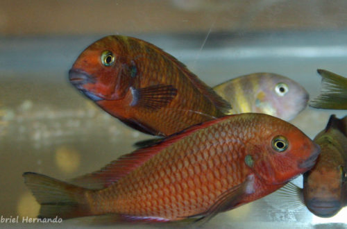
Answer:
[[307, 201], [307, 207], [319, 217], [332, 217], [341, 209], [341, 201], [337, 199], [322, 201], [319, 198], [312, 198]]

